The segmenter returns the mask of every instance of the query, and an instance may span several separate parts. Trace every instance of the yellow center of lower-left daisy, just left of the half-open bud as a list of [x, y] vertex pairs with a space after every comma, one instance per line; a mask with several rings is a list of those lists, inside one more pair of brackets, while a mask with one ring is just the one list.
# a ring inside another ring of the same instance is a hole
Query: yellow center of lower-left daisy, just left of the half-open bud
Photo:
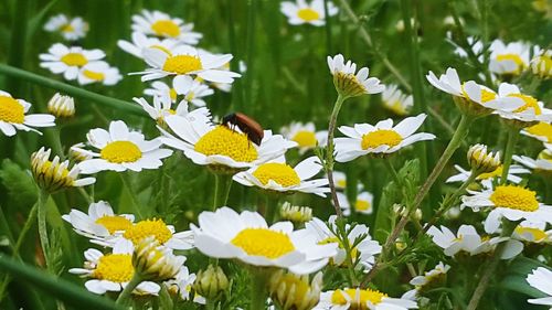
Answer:
[[107, 254], [99, 258], [92, 277], [116, 284], [128, 282], [135, 274], [132, 256], [129, 254]]

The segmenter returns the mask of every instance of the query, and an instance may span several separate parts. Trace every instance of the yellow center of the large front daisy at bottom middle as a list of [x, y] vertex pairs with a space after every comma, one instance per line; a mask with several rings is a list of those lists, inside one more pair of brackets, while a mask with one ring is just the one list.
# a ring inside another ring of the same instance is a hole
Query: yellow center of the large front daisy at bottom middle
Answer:
[[295, 250], [288, 235], [268, 228], [245, 228], [231, 243], [242, 248], [247, 255], [263, 256], [270, 259]]

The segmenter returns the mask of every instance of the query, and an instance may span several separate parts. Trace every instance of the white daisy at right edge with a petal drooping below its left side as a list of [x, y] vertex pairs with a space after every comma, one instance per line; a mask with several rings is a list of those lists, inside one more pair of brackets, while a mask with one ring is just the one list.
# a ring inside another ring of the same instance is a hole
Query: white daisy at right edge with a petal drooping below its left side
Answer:
[[519, 185], [498, 185], [493, 190], [481, 192], [468, 191], [471, 195], [461, 197], [461, 206], [471, 207], [478, 212], [481, 207], [492, 209], [485, 221], [485, 231], [495, 233], [500, 221], [527, 220], [532, 223], [545, 222], [552, 224], [552, 206], [537, 200], [537, 193]]

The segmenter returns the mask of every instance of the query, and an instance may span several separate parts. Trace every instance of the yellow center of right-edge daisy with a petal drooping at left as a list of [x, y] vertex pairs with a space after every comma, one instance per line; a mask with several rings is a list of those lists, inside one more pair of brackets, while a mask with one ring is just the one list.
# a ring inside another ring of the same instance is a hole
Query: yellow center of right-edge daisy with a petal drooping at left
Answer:
[[537, 193], [517, 185], [500, 185], [490, 195], [497, 207], [509, 207], [526, 212], [539, 210]]

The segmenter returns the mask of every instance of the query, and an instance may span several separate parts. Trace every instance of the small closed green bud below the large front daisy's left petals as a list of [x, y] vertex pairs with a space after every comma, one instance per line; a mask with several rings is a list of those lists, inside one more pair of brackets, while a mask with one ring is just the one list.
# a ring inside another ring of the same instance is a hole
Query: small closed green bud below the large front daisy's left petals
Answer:
[[217, 299], [229, 288], [229, 279], [219, 266], [209, 265], [206, 270], [200, 270], [193, 282], [193, 289], [208, 300]]

